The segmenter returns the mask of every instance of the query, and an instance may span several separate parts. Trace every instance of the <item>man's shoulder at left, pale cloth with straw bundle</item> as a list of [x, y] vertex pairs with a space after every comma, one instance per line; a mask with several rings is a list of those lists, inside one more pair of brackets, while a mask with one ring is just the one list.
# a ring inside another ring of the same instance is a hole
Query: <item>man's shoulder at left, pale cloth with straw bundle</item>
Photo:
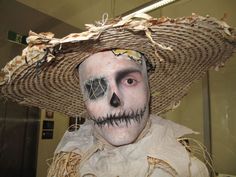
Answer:
[[86, 122], [77, 131], [66, 131], [55, 150], [47, 177], [76, 176], [84, 153], [94, 144], [92, 133], [91, 122]]

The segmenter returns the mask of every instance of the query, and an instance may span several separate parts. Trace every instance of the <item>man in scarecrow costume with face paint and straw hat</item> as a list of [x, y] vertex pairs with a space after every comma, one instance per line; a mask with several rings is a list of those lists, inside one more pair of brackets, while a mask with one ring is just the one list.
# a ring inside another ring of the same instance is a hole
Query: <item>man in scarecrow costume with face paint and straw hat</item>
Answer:
[[61, 40], [31, 33], [28, 41], [2, 70], [1, 92], [88, 118], [65, 133], [48, 176], [208, 176], [183, 141], [195, 132], [153, 114], [175, 107], [194, 80], [232, 55], [228, 25], [195, 15], [141, 15]]

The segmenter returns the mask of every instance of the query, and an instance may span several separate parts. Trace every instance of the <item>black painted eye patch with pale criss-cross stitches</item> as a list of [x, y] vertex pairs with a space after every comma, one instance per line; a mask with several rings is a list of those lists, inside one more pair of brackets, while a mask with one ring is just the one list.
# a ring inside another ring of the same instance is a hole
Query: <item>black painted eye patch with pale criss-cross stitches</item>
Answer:
[[107, 90], [107, 81], [105, 78], [95, 78], [85, 83], [85, 90], [91, 100], [102, 97]]

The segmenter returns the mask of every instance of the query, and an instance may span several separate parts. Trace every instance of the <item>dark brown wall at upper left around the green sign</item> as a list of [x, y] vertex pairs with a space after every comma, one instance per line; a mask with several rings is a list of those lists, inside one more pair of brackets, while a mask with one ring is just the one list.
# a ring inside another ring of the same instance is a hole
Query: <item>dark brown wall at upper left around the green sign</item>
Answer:
[[56, 34], [56, 37], [63, 37], [68, 33], [79, 31], [78, 28], [13, 0], [0, 1], [0, 15], [0, 68], [13, 57], [21, 54], [22, 49], [26, 47], [9, 42], [7, 39], [8, 30], [22, 35], [27, 35], [30, 30], [35, 32], [51, 31]]

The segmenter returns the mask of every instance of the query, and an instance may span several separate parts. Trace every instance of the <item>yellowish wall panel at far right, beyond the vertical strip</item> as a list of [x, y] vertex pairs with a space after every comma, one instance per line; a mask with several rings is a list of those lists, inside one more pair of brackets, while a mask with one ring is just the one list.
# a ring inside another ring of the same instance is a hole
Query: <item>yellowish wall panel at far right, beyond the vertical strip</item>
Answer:
[[213, 159], [218, 171], [229, 174], [236, 174], [235, 76], [236, 56], [219, 72], [210, 73]]

